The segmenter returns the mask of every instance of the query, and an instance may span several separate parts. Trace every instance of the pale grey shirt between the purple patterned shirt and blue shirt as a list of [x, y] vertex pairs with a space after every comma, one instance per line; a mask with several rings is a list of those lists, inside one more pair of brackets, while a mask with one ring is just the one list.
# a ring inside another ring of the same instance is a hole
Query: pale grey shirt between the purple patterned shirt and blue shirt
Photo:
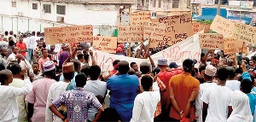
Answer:
[[[107, 83], [100, 80], [88, 80], [84, 85], [84, 90], [93, 93], [95, 96], [101, 95], [106, 96]], [[95, 108], [88, 109], [88, 119], [92, 121], [95, 118], [97, 110]]]

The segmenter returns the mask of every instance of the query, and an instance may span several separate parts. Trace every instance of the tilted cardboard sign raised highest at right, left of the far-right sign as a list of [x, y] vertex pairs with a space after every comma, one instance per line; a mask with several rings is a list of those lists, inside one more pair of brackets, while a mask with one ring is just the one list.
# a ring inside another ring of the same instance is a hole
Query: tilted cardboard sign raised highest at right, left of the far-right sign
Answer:
[[225, 38], [229, 38], [233, 36], [234, 27], [234, 22], [224, 19], [219, 15], [216, 15], [214, 20], [212, 21], [210, 29], [214, 32], [218, 32], [219, 34], [223, 34]]

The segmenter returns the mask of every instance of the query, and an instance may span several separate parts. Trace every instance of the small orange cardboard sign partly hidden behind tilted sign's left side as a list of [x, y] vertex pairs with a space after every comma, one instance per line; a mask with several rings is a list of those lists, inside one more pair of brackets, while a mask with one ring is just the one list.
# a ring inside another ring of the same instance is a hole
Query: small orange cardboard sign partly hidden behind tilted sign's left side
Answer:
[[200, 22], [192, 22], [192, 27], [193, 27], [193, 33], [201, 32], [201, 30], [205, 29], [205, 33], [210, 32], [210, 25], [200, 23]]

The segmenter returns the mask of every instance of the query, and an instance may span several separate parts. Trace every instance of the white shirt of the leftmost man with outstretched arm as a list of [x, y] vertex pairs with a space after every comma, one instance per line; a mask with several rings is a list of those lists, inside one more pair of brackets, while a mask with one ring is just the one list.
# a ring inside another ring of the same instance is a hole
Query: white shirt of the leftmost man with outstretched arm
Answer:
[[25, 87], [16, 88], [14, 86], [0, 85], [0, 121], [17, 122], [19, 109], [16, 96], [25, 96], [32, 90], [32, 83], [25, 79]]

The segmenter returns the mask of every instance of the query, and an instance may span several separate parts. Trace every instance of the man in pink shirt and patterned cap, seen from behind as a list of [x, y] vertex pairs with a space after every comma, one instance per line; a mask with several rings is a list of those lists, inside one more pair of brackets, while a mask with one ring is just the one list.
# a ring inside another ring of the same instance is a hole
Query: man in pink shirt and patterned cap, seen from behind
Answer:
[[32, 83], [32, 92], [26, 96], [26, 102], [28, 102], [28, 121], [45, 121], [45, 110], [49, 87], [56, 81], [55, 77], [55, 65], [53, 61], [45, 61], [44, 78], [38, 79]]

